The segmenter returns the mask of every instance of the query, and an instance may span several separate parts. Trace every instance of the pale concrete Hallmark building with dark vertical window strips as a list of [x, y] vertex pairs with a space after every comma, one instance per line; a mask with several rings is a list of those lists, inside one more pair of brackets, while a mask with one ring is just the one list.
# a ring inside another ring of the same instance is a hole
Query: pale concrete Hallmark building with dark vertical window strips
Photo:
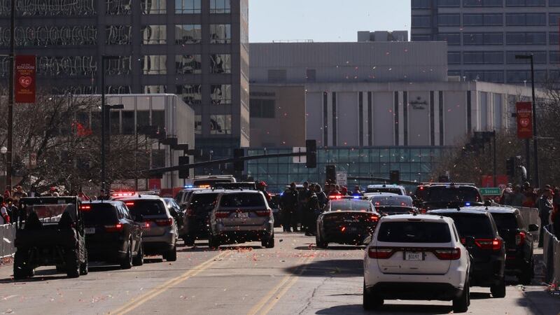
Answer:
[[[443, 42], [258, 43], [251, 60], [259, 102], [290, 117], [304, 106], [305, 133], [293, 137], [320, 147], [454, 146], [472, 131], [513, 127], [514, 102], [531, 95], [519, 85], [449, 80]], [[294, 85], [304, 102], [275, 97]], [[252, 120], [251, 130], [278, 125]], [[251, 147], [270, 148], [269, 140]]]

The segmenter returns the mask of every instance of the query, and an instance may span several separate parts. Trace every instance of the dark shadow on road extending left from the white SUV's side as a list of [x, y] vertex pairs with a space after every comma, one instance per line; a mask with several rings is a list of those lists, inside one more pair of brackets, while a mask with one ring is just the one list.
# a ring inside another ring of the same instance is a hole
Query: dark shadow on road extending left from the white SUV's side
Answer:
[[[302, 267], [305, 267], [304, 272], [301, 272]], [[307, 265], [297, 265], [295, 267], [286, 268], [285, 270], [286, 272], [297, 274], [298, 276], [363, 276], [363, 260], [314, 260]]]

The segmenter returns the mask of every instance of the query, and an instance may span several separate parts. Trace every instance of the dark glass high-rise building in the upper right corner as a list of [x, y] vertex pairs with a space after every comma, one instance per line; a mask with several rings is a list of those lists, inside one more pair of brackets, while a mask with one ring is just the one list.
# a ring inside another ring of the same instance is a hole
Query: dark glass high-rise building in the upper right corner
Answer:
[[560, 0], [412, 0], [412, 41], [447, 41], [449, 75], [494, 83], [560, 76]]

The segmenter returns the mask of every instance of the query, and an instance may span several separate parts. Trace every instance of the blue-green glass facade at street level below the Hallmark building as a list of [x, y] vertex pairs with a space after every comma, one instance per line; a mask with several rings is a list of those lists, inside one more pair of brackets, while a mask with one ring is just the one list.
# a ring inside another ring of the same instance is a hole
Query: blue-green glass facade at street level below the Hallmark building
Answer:
[[[361, 147], [318, 148], [317, 168], [307, 169], [297, 158], [270, 158], [248, 161], [246, 171], [256, 181], [265, 181], [271, 193], [278, 193], [290, 182], [304, 181], [325, 183], [325, 167], [336, 165], [337, 172], [347, 172], [349, 177], [389, 177], [389, 172], [400, 171], [400, 179], [428, 181], [438, 158], [449, 147]], [[248, 149], [248, 155], [290, 153], [289, 149]], [[349, 181], [349, 186], [365, 186], [370, 181]]]

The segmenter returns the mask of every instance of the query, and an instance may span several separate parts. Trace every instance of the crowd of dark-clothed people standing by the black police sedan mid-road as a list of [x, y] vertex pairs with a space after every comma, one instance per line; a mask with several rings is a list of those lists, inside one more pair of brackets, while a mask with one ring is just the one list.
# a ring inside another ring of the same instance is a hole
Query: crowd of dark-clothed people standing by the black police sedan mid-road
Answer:
[[305, 235], [316, 235], [316, 220], [328, 202], [330, 196], [361, 196], [360, 187], [356, 186], [352, 192], [344, 186], [335, 184], [325, 185], [325, 190], [318, 183], [303, 183], [297, 189], [295, 183], [290, 183], [280, 198], [281, 220], [284, 232], [305, 232]]

